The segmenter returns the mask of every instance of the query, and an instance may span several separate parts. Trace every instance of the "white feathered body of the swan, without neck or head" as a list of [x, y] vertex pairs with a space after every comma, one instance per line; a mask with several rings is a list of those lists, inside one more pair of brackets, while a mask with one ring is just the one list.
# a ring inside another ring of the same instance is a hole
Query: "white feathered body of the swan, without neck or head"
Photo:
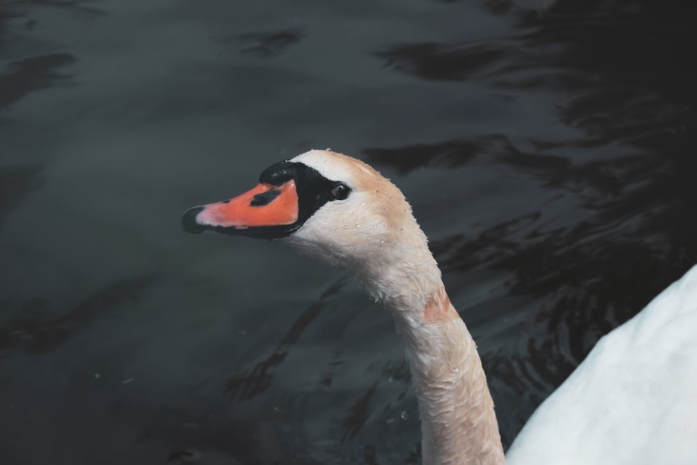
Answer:
[[510, 464], [697, 464], [697, 266], [602, 337], [540, 405]]

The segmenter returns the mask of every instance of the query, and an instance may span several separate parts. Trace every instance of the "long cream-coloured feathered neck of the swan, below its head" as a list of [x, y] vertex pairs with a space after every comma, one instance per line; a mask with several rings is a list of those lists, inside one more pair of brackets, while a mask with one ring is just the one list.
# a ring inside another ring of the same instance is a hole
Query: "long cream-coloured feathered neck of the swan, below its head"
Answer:
[[435, 289], [412, 294], [424, 298], [393, 295], [385, 302], [406, 345], [421, 416], [423, 464], [504, 464], [477, 346], [437, 273]]

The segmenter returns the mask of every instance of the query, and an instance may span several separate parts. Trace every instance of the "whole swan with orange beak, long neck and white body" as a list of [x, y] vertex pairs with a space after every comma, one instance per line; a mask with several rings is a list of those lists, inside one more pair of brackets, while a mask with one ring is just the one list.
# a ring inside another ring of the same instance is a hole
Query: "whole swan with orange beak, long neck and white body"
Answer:
[[697, 464], [697, 266], [598, 342], [504, 456], [477, 348], [401, 191], [312, 150], [182, 227], [279, 239], [355, 275], [395, 319], [418, 397], [424, 464]]

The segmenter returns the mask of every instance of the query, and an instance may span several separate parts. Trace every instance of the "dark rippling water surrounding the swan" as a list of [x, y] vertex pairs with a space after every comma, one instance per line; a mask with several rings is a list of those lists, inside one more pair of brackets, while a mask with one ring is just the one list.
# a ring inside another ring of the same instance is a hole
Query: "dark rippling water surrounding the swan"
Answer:
[[691, 1], [0, 0], [0, 463], [414, 464], [389, 315], [181, 212], [309, 148], [405, 192], [510, 443], [697, 262]]

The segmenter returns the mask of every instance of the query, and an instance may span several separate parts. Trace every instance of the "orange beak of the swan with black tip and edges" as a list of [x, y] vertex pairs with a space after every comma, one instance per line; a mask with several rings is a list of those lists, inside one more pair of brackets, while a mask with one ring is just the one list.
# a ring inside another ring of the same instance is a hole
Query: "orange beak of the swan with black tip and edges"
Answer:
[[263, 230], [287, 227], [298, 221], [298, 208], [295, 181], [291, 179], [282, 185], [261, 183], [233, 199], [190, 208], [182, 217], [182, 228], [192, 233], [212, 230], [266, 236]]

